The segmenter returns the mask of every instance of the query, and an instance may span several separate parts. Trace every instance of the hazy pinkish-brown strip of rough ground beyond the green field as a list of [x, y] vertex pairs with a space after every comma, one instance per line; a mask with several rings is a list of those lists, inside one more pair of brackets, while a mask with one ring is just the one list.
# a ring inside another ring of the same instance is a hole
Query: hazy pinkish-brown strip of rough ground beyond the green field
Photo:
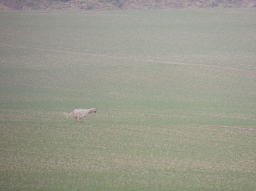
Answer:
[[256, 8], [256, 0], [0, 0], [0, 11]]

